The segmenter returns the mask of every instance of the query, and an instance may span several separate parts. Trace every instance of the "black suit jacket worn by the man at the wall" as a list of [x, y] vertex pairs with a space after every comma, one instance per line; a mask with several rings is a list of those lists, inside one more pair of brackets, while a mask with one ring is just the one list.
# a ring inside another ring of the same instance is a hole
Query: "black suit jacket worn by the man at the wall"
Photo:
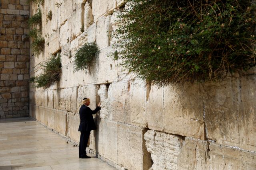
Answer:
[[80, 125], [78, 131], [90, 131], [95, 130], [96, 125], [94, 123], [93, 116], [100, 110], [100, 107], [97, 106], [95, 110], [91, 110], [90, 107], [82, 105], [79, 110], [80, 114]]

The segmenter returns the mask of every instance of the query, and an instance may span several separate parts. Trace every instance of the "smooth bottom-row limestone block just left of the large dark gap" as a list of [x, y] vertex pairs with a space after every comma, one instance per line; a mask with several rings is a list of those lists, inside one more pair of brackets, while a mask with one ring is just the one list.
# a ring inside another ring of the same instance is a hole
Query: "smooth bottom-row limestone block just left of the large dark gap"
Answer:
[[142, 170], [142, 130], [141, 127], [117, 124], [117, 164], [131, 170]]

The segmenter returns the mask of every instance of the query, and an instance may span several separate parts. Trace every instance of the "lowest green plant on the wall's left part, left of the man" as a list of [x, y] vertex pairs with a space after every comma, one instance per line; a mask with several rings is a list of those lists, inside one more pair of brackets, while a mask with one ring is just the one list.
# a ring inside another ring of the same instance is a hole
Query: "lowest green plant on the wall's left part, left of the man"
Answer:
[[52, 55], [48, 61], [42, 64], [44, 73], [40, 76], [34, 78], [36, 88], [49, 88], [58, 80], [60, 80], [61, 75], [61, 59], [60, 53], [57, 55]]

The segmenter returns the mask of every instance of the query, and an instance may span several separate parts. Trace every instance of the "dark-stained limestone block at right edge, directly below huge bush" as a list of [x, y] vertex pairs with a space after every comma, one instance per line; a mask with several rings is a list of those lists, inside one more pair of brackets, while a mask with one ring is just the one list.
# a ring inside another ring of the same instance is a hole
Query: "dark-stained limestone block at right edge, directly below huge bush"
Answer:
[[204, 84], [208, 139], [256, 151], [253, 126], [256, 121], [253, 113], [256, 109], [254, 78], [234, 77], [219, 84]]

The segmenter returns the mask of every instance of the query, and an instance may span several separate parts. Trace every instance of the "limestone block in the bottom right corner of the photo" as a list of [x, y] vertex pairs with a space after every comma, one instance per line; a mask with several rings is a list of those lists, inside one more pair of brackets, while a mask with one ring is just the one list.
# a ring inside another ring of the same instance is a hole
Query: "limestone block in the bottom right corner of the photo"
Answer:
[[226, 147], [215, 143], [209, 146], [209, 169], [255, 170], [255, 152]]

